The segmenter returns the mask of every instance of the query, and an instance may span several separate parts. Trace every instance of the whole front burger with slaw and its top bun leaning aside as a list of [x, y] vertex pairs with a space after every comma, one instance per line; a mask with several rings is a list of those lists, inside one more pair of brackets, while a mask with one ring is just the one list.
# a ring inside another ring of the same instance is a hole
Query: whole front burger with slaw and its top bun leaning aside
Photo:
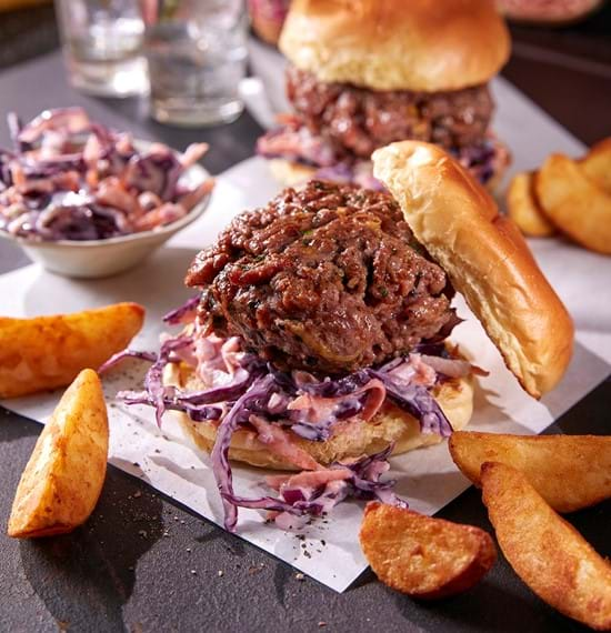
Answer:
[[[472, 413], [481, 370], [449, 342], [454, 289], [532, 395], [570, 360], [564, 307], [460, 163], [404, 141], [373, 164], [384, 191], [311, 181], [237, 217], [189, 268], [198, 295], [167, 316], [183, 330], [149, 356], [144, 391], [123, 394], [174, 410], [211, 453], [229, 530], [239, 506], [287, 526], [348, 495], [400, 503], [390, 455]], [[233, 460], [298, 473], [243, 498]]]

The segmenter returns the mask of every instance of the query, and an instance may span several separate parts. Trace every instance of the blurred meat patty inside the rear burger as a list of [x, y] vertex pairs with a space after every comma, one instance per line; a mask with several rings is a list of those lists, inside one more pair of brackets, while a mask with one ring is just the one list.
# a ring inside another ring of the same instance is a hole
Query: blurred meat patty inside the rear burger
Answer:
[[373, 91], [325, 83], [289, 67], [287, 94], [314, 134], [369, 158], [393, 141], [431, 141], [445, 149], [481, 142], [493, 111], [487, 86], [451, 92]]

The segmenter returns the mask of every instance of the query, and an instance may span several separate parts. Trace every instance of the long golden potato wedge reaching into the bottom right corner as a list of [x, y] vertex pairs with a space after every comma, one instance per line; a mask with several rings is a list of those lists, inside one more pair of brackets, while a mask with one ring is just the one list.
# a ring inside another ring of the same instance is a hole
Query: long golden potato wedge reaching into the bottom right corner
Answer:
[[497, 540], [515, 573], [564, 615], [592, 629], [610, 629], [611, 565], [545, 503], [523, 473], [485, 462], [481, 480]]

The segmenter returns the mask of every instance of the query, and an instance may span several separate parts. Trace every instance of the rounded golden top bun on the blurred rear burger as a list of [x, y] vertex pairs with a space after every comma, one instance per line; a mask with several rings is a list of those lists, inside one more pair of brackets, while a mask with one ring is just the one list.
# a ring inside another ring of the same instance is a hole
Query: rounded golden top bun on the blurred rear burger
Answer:
[[372, 90], [460, 90], [509, 59], [493, 0], [293, 0], [280, 50], [319, 80]]

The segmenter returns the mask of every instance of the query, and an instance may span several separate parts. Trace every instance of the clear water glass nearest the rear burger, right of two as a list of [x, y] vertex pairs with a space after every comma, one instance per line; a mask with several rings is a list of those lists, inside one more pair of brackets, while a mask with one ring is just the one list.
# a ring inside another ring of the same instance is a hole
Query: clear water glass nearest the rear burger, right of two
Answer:
[[243, 0], [166, 0], [147, 17], [151, 114], [183, 127], [228, 123], [243, 110], [248, 18]]

